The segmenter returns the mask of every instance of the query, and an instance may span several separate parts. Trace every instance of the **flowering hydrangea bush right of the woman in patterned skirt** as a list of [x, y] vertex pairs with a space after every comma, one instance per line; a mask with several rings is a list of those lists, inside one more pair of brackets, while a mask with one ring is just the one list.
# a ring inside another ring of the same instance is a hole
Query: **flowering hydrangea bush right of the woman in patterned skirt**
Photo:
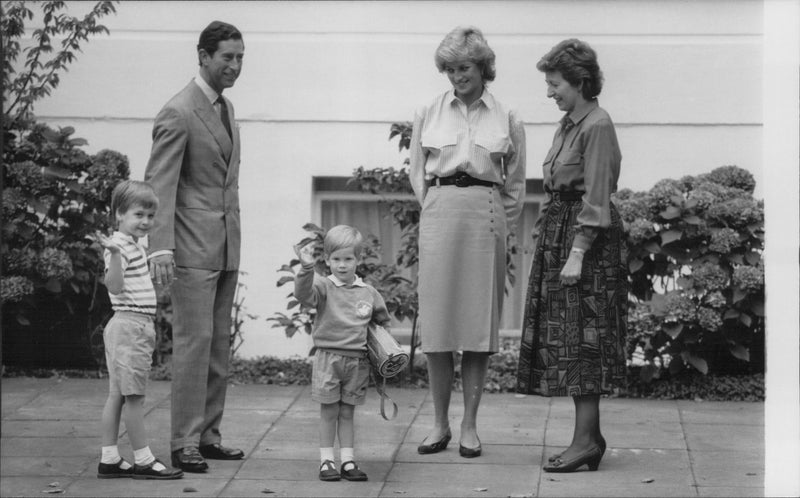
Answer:
[[629, 352], [643, 354], [643, 379], [662, 368], [763, 368], [764, 205], [754, 189], [747, 170], [722, 166], [615, 194], [635, 305]]

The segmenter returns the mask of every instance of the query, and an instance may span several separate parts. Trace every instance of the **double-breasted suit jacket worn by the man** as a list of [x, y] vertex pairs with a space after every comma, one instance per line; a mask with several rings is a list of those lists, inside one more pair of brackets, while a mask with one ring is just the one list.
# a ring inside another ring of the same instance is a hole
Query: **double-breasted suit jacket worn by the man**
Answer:
[[194, 81], [155, 119], [145, 181], [155, 189], [159, 207], [149, 252], [172, 250], [177, 266], [239, 268], [239, 130], [233, 105], [225, 102], [232, 139]]

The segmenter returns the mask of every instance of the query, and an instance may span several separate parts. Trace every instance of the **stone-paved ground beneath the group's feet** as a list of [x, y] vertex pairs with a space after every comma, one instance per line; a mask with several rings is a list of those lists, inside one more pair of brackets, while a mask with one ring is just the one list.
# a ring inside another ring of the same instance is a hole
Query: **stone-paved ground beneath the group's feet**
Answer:
[[[177, 481], [97, 479], [100, 415], [107, 379], [2, 379], [0, 495], [42, 496], [58, 482], [66, 496], [761, 496], [763, 403], [610, 398], [601, 401], [609, 448], [599, 472], [548, 474], [547, 455], [572, 437], [568, 398], [484, 394], [480, 458], [458, 455], [463, 403], [454, 392], [453, 440], [419, 455], [433, 424], [426, 390], [390, 387], [398, 404], [383, 420], [368, 391], [356, 409], [356, 457], [365, 483], [318, 479], [319, 405], [308, 386], [231, 385], [223, 442], [240, 461], [210, 460], [204, 474]], [[169, 463], [170, 384], [153, 382], [145, 424], [154, 454]], [[120, 453], [133, 459], [121, 427]], [[338, 452], [337, 452], [338, 454]], [[337, 462], [339, 463], [339, 462]], [[192, 492], [185, 491], [188, 488]], [[264, 490], [272, 493], [264, 493]]]

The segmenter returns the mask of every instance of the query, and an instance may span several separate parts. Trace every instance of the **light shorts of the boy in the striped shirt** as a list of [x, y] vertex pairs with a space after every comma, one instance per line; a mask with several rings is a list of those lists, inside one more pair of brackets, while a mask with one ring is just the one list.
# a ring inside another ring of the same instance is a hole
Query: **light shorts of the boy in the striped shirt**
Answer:
[[109, 393], [144, 395], [156, 347], [153, 317], [116, 311], [103, 331], [103, 341]]

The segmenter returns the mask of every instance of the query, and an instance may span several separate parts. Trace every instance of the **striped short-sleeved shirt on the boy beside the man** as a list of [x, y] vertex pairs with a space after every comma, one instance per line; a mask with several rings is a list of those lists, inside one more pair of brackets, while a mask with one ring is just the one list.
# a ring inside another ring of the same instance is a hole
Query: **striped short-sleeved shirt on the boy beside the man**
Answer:
[[[125, 282], [122, 292], [119, 294], [109, 292], [111, 307], [114, 311], [134, 311], [155, 315], [156, 291], [147, 268], [147, 251], [133, 237], [122, 232], [114, 232], [111, 239], [122, 249], [120, 260]], [[111, 262], [111, 251], [106, 249], [103, 252], [103, 258], [106, 262], [106, 269], [108, 269]]]

